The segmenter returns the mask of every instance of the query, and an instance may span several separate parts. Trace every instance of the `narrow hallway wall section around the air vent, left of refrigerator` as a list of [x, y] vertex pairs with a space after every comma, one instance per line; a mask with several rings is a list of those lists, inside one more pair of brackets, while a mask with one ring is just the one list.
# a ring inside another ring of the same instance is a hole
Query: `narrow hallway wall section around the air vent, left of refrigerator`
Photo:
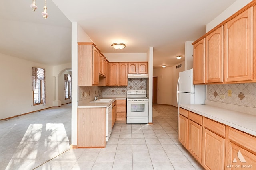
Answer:
[[[180, 64], [181, 64], [181, 67], [176, 68], [176, 66]], [[176, 97], [177, 83], [179, 78], [179, 72], [182, 72], [184, 70], [185, 70], [185, 61], [172, 66], [172, 106], [178, 107], [177, 97]]]

